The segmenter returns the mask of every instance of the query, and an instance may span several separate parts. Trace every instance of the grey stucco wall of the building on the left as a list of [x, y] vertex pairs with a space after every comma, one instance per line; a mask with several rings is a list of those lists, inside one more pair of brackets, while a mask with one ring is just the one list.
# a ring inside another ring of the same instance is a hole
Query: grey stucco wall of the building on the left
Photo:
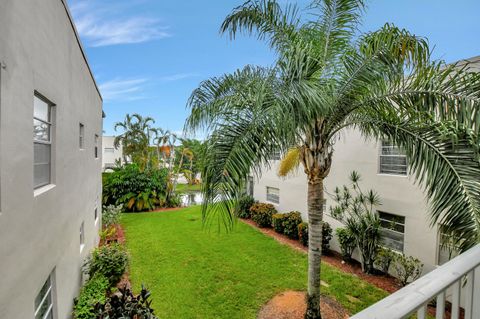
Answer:
[[[77, 41], [63, 0], [0, 1], [0, 318], [34, 318], [52, 271], [54, 318], [69, 318], [81, 265], [98, 242], [102, 100]], [[52, 184], [34, 191], [35, 91], [56, 106]]]

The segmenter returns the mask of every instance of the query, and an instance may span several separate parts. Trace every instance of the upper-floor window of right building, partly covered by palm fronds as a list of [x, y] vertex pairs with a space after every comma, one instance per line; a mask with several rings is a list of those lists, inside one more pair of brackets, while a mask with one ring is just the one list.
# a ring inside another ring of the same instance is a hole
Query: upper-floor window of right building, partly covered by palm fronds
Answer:
[[383, 141], [380, 151], [380, 173], [407, 175], [407, 157], [395, 144]]

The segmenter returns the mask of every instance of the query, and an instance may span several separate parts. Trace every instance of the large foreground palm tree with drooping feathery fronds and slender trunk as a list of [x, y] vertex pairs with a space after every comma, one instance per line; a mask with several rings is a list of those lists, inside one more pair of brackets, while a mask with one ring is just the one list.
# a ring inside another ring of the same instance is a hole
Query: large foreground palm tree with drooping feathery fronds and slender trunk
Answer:
[[317, 0], [308, 10], [311, 21], [274, 0], [234, 9], [221, 32], [266, 41], [276, 63], [202, 82], [190, 97], [186, 129], [209, 134], [203, 219], [219, 214], [227, 229], [252, 171], [270, 166], [274, 152], [298, 159], [291, 162], [303, 166], [308, 182], [305, 318], [321, 318], [324, 179], [346, 129], [404, 148], [432, 223], [463, 238], [462, 249], [480, 241], [480, 78], [432, 61], [425, 39], [393, 25], [355, 36], [363, 0]]

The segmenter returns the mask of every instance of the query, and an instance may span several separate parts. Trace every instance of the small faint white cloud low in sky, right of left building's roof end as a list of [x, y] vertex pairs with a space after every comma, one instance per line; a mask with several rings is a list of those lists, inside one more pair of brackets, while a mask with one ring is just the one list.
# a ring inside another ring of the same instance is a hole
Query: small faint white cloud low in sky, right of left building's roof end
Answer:
[[113, 79], [99, 85], [105, 101], [134, 101], [145, 98], [142, 85], [147, 79]]

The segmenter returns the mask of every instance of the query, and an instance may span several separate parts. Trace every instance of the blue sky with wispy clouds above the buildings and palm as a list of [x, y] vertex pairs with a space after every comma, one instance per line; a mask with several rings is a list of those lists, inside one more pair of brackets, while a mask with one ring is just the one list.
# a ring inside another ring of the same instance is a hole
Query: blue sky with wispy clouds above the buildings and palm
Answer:
[[[105, 134], [115, 134], [113, 124], [127, 113], [151, 116], [156, 126], [180, 132], [188, 97], [201, 80], [246, 64], [272, 64], [262, 42], [219, 35], [225, 16], [242, 3], [69, 0], [104, 98]], [[480, 55], [478, 12], [478, 0], [371, 0], [360, 29], [393, 22], [427, 37], [436, 58], [453, 62]]]

